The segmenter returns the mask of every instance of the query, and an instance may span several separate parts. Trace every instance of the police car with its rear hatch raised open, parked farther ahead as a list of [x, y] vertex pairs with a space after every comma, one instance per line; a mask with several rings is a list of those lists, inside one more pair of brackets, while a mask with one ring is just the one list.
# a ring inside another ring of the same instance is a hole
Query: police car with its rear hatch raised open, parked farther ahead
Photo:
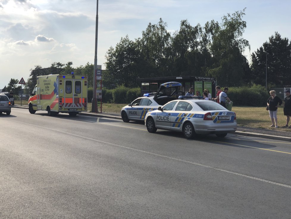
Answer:
[[143, 97], [135, 99], [132, 103], [121, 109], [123, 122], [130, 120], [144, 121], [147, 112], [178, 98], [178, 92], [182, 86], [179, 82], [167, 82], [161, 84], [155, 93], [144, 94]]

